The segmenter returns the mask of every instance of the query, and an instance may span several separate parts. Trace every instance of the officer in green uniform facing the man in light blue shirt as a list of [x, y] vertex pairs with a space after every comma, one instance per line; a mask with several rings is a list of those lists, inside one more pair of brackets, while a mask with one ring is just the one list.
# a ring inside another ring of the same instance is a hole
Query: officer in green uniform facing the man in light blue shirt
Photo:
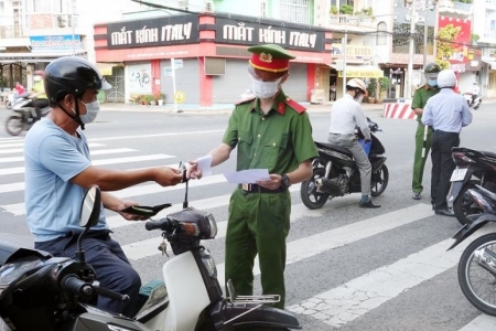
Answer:
[[[438, 74], [441, 72], [441, 67], [438, 63], [432, 62], [425, 65], [423, 70], [427, 78], [427, 84], [419, 87], [411, 102], [411, 108], [417, 114], [417, 132], [416, 132], [416, 153], [413, 160], [413, 179], [411, 182], [411, 189], [413, 191], [412, 197], [420, 200], [422, 193], [422, 178], [423, 169], [425, 167], [425, 160], [431, 149], [432, 128], [425, 127], [422, 124], [423, 107], [428, 99], [439, 93], [438, 88]], [[425, 132], [427, 130], [427, 132]], [[434, 201], [435, 196], [431, 196], [431, 201]]]

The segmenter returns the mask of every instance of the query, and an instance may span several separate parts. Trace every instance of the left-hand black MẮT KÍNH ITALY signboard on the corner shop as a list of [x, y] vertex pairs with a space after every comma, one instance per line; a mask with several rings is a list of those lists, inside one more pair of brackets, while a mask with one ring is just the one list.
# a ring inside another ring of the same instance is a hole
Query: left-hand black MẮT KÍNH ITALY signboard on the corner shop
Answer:
[[109, 50], [198, 42], [198, 15], [174, 15], [108, 23]]

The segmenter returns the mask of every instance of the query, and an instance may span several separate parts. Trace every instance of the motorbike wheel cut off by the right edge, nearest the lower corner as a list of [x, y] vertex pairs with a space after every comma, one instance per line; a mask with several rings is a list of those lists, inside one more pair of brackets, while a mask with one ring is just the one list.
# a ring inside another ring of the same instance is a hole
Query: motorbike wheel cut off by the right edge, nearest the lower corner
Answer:
[[465, 298], [478, 310], [496, 316], [496, 278], [475, 259], [474, 252], [484, 248], [496, 255], [496, 233], [475, 239], [459, 263], [459, 284]]

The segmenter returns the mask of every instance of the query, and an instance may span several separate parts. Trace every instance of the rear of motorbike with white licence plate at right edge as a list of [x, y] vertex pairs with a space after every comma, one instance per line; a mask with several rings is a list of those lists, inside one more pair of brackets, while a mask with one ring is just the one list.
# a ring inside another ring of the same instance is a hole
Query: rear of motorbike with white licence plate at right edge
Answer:
[[464, 147], [454, 147], [452, 158], [456, 166], [450, 181], [450, 201], [453, 212], [461, 224], [468, 222], [467, 215], [481, 213], [482, 210], [468, 194], [470, 189], [478, 184], [496, 192], [496, 153], [477, 151]]

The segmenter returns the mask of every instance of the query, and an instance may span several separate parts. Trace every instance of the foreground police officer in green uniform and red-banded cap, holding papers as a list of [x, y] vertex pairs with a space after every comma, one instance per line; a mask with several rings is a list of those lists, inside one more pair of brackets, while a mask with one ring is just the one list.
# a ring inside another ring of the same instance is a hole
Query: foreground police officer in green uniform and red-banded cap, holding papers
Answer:
[[[212, 167], [238, 147], [237, 171], [268, 169], [270, 179], [239, 184], [229, 202], [225, 279], [240, 296], [254, 291], [254, 263], [258, 254], [263, 295], [280, 295], [273, 305], [284, 308], [285, 238], [290, 231], [291, 184], [312, 177], [317, 157], [305, 108], [284, 95], [289, 61], [294, 58], [276, 44], [251, 46], [248, 65], [252, 99], [236, 105], [222, 143], [213, 149]], [[190, 162], [190, 178], [201, 178]]]

